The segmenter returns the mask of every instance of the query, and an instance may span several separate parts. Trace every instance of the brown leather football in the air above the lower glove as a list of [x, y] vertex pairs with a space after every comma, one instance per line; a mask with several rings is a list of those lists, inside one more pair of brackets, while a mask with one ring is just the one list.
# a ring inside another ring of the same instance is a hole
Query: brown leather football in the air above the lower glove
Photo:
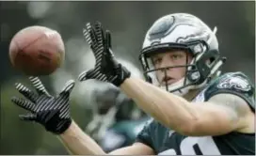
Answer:
[[26, 75], [49, 75], [61, 66], [65, 47], [58, 32], [44, 26], [20, 30], [9, 44], [12, 66]]

